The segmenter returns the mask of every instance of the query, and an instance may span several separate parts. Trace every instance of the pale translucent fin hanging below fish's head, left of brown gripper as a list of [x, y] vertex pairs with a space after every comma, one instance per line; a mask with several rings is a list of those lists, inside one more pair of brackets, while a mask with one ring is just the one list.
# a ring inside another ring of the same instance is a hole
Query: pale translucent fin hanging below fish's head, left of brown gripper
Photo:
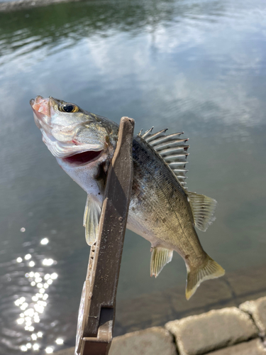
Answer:
[[101, 215], [99, 204], [88, 195], [84, 210], [83, 226], [85, 227], [85, 237], [87, 244], [92, 245], [98, 237], [98, 226]]

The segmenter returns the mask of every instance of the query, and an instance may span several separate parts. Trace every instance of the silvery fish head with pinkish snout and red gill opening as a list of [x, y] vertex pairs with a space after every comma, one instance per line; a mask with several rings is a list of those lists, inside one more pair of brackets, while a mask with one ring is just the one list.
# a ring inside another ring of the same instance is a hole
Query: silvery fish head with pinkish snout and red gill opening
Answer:
[[63, 170], [87, 193], [95, 190], [98, 194], [95, 180], [99, 185], [99, 175], [108, 169], [116, 148], [118, 126], [53, 97], [38, 96], [30, 104], [43, 142]]

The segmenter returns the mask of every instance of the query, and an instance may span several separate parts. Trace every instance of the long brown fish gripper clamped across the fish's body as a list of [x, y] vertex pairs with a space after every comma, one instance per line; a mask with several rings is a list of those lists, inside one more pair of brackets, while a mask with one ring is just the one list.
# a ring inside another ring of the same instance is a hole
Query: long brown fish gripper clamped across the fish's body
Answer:
[[99, 236], [91, 247], [77, 324], [76, 355], [107, 355], [113, 339], [116, 291], [133, 181], [135, 121], [122, 117], [109, 167]]

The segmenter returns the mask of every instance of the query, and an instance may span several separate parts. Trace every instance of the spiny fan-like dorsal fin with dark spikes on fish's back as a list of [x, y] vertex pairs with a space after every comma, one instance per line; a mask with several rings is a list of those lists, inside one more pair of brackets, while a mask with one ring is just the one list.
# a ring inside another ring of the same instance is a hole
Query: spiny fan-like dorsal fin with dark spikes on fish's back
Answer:
[[189, 146], [186, 145], [189, 138], [179, 138], [184, 132], [165, 134], [167, 129], [162, 129], [162, 131], [152, 133], [153, 127], [138, 136], [145, 139], [146, 142], [152, 146], [155, 151], [165, 160], [165, 163], [171, 168], [174, 174], [177, 176], [180, 184], [187, 190], [185, 180], [187, 179], [186, 173], [187, 169], [187, 149]]

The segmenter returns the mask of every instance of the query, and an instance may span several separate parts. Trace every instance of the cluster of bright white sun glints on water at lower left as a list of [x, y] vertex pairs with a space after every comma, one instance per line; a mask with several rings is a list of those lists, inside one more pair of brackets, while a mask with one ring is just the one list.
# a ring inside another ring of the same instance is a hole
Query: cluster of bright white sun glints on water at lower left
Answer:
[[[21, 229], [22, 231], [22, 229]], [[43, 238], [40, 240], [40, 244], [45, 246], [49, 243], [48, 238]], [[23, 259], [28, 262], [26, 266], [29, 268], [33, 268], [33, 266], [45, 266], [49, 267], [57, 262], [52, 258], [43, 258], [42, 260], [33, 261], [33, 255], [31, 253], [27, 253], [23, 258], [19, 256], [16, 258], [17, 263], [22, 263]], [[43, 270], [43, 268], [42, 268]], [[22, 296], [15, 300], [14, 304], [16, 307], [20, 308], [22, 311], [19, 314], [16, 323], [23, 327], [26, 332], [31, 333], [31, 337], [27, 338], [27, 343], [22, 344], [20, 346], [21, 351], [26, 352], [28, 350], [40, 351], [42, 346], [38, 344], [38, 339], [43, 337], [43, 332], [38, 330], [38, 323], [40, 323], [40, 318], [45, 312], [45, 307], [48, 305], [48, 293], [49, 288], [52, 283], [58, 278], [58, 274], [55, 272], [45, 273], [45, 271], [33, 271], [28, 270], [25, 273], [25, 278], [28, 279], [28, 283], [33, 288], [33, 295], [26, 295], [26, 297]], [[31, 341], [31, 342], [30, 342]], [[55, 340], [55, 344], [62, 345], [64, 344], [64, 340], [61, 338], [57, 338]], [[46, 354], [52, 354], [54, 351], [53, 346], [43, 347], [43, 350]]]

